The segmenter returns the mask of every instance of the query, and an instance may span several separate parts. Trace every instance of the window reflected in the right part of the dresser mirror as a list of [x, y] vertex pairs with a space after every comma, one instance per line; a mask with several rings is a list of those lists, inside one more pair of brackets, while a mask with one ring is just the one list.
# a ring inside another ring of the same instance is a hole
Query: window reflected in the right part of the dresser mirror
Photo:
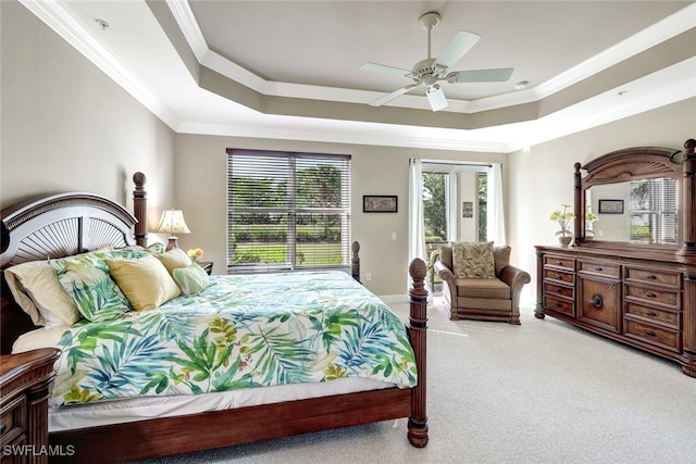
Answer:
[[676, 179], [631, 183], [631, 240], [643, 243], [678, 242]]

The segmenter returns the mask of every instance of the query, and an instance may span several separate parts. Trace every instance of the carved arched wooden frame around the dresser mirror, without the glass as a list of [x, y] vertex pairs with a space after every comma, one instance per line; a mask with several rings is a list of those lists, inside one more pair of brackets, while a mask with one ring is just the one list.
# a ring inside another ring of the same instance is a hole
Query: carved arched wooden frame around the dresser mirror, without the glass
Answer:
[[[632, 147], [598, 156], [585, 165], [574, 164], [574, 233], [579, 247], [611, 249], [659, 249], [676, 251], [684, 241], [684, 208], [681, 199], [684, 185], [682, 181], [684, 165], [675, 162], [681, 150], [661, 147]], [[582, 171], [586, 174], [583, 176]], [[630, 180], [669, 177], [679, 186], [680, 202], [678, 209], [679, 230], [678, 243], [634, 243], [629, 241], [588, 240], [585, 235], [585, 200], [588, 188], [599, 185], [625, 183]]]

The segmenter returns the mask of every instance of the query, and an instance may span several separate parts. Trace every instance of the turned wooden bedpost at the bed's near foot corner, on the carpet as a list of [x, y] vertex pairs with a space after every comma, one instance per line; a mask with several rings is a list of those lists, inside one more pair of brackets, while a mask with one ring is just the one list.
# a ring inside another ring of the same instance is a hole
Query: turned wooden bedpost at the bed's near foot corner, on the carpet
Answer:
[[409, 340], [415, 353], [415, 366], [418, 368], [418, 386], [411, 390], [411, 416], [409, 417], [409, 442], [423, 448], [427, 444], [427, 414], [425, 402], [426, 387], [426, 355], [427, 355], [427, 290], [425, 289], [425, 274], [427, 266], [420, 258], [411, 261], [409, 266], [411, 275], [411, 288], [409, 302]]

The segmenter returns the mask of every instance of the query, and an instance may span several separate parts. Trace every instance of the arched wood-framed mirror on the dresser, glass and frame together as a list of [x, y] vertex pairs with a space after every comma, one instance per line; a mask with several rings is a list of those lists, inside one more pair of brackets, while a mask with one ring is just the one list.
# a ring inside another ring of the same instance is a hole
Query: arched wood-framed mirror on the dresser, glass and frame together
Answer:
[[674, 248], [680, 236], [679, 150], [635, 147], [575, 164], [575, 242]]

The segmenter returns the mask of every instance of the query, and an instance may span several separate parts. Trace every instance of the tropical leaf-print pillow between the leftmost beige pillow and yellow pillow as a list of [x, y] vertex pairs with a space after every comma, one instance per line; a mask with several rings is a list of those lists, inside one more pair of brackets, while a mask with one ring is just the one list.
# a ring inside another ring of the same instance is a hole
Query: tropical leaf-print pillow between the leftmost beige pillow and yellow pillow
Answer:
[[130, 311], [128, 300], [111, 279], [107, 259], [135, 259], [146, 252], [123, 249], [114, 251], [92, 251], [74, 256], [51, 260], [58, 280], [72, 298], [77, 310], [91, 322], [119, 317]]

